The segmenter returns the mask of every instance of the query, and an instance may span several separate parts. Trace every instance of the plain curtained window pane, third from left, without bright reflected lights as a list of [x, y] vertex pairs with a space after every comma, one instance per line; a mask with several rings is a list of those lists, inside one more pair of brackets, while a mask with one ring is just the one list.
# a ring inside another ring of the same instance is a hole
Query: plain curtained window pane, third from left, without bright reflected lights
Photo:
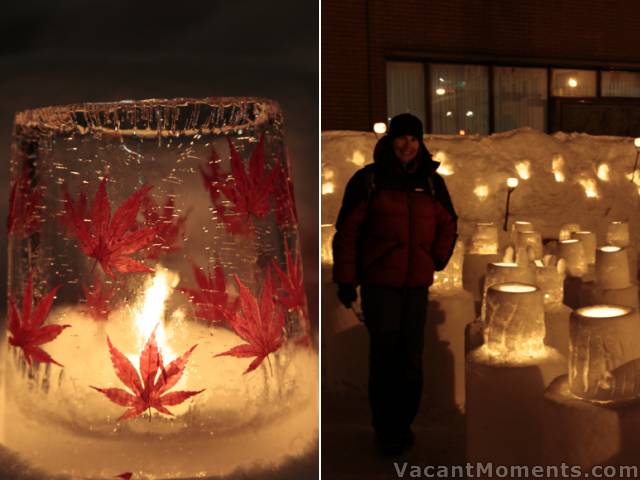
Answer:
[[547, 127], [547, 70], [495, 67], [493, 101], [496, 132], [523, 126]]

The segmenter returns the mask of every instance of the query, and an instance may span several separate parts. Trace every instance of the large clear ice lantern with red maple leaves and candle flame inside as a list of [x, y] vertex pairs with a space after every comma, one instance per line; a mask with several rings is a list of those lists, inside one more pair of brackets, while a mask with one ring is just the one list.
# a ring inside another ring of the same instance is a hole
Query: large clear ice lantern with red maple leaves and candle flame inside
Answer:
[[91, 478], [307, 452], [316, 355], [278, 105], [43, 108], [13, 140], [7, 445]]

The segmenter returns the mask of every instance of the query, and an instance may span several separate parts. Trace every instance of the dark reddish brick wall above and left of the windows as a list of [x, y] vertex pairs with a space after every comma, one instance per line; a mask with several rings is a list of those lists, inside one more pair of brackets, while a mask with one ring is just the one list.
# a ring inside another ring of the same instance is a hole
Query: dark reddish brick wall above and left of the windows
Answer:
[[640, 65], [640, 1], [322, 0], [322, 129], [386, 117], [387, 58]]

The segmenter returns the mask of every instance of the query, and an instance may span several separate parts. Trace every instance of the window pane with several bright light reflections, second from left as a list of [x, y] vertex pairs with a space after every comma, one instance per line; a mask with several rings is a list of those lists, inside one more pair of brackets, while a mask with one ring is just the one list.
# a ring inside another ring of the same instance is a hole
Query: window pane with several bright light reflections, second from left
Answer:
[[488, 72], [479, 65], [429, 65], [433, 133], [489, 133]]

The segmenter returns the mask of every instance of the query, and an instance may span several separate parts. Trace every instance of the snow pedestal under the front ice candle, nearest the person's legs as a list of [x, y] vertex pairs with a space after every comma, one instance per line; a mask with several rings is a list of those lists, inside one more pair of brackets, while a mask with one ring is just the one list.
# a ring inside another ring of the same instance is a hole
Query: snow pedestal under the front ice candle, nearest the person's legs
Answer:
[[467, 356], [467, 461], [538, 465], [542, 457], [544, 391], [566, 373], [566, 359], [544, 353], [506, 363], [480, 347]]

